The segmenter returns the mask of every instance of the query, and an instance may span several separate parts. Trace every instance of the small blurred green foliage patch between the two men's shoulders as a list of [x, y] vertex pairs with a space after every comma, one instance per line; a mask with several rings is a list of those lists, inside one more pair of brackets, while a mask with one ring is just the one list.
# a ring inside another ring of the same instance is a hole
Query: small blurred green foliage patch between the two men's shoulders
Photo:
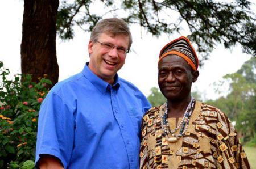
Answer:
[[158, 90], [156, 87], [151, 88], [151, 94], [147, 97], [148, 101], [152, 106], [162, 105], [166, 102], [166, 98], [164, 98], [162, 92]]

